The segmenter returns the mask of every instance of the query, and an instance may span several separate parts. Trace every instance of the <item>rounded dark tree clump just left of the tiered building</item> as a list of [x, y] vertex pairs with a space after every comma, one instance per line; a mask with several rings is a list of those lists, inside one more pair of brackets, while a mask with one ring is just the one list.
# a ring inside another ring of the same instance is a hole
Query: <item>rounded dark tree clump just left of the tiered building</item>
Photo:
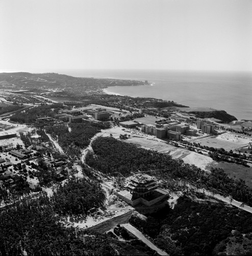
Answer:
[[102, 206], [105, 194], [99, 183], [71, 179], [54, 191], [51, 200], [58, 214], [78, 215], [87, 214], [89, 209]]

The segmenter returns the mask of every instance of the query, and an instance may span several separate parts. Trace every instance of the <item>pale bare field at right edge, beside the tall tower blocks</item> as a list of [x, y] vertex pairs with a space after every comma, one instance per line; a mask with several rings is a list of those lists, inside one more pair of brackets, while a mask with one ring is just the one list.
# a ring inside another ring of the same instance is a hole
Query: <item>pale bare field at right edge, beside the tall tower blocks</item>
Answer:
[[215, 148], [222, 147], [225, 151], [230, 151], [248, 145], [252, 142], [252, 138], [245, 135], [227, 132], [216, 137], [207, 137], [194, 140], [194, 142], [199, 143], [201, 146], [209, 146]]

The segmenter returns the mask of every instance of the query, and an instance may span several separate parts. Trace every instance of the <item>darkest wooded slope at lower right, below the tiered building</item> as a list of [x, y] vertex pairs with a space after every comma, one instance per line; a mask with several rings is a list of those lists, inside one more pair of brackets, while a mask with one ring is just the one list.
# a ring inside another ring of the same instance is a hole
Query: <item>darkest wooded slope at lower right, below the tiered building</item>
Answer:
[[[146, 220], [134, 215], [130, 223], [152, 237], [169, 255], [212, 255], [228, 246], [232, 230], [252, 232], [252, 215], [243, 210], [211, 201], [197, 202], [184, 196], [174, 209], [164, 208]], [[221, 243], [222, 247], [216, 246]], [[223, 246], [224, 245], [224, 246]], [[252, 242], [246, 252], [251, 253]], [[225, 254], [223, 254], [225, 255]]]

